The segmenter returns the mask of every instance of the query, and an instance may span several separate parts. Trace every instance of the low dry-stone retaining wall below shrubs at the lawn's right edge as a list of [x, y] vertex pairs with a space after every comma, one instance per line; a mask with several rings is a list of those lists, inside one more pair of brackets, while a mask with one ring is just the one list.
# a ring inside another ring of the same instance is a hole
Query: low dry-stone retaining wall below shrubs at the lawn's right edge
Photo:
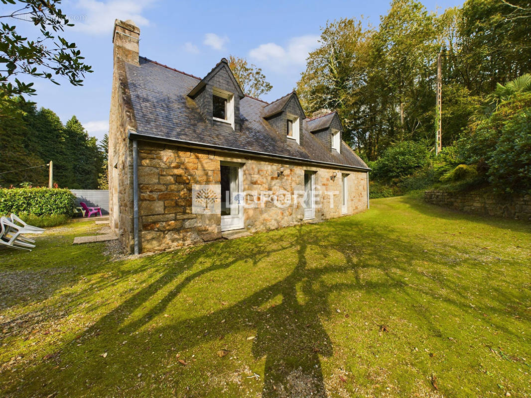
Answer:
[[466, 213], [531, 221], [531, 195], [504, 196], [478, 192], [426, 191], [424, 200]]

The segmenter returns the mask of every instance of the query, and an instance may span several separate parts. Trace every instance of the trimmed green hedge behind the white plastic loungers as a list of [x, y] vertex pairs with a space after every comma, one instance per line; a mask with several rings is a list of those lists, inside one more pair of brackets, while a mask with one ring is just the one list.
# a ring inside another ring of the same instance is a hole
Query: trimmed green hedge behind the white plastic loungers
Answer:
[[35, 215], [72, 215], [75, 196], [68, 189], [1, 188], [0, 215], [30, 213]]

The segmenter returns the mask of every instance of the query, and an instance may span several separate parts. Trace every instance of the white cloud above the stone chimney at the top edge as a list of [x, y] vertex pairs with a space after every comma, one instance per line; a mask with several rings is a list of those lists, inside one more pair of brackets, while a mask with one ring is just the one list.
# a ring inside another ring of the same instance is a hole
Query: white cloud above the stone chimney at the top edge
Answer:
[[74, 29], [90, 34], [112, 32], [114, 20], [133, 20], [138, 26], [148, 26], [149, 20], [142, 15], [146, 7], [156, 0], [78, 0], [79, 15], [71, 16]]

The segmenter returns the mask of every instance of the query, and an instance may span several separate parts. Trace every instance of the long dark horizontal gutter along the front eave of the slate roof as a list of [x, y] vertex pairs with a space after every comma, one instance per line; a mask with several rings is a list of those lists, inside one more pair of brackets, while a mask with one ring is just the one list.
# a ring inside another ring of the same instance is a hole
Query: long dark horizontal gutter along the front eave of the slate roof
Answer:
[[340, 165], [339, 163], [330, 163], [330, 162], [321, 162], [319, 160], [310, 160], [310, 159], [303, 159], [303, 158], [293, 158], [290, 156], [285, 155], [278, 155], [274, 153], [267, 153], [267, 152], [256, 152], [256, 151], [249, 151], [246, 149], [238, 149], [238, 148], [230, 148], [227, 146], [219, 146], [219, 145], [211, 145], [211, 144], [204, 144], [201, 142], [193, 142], [193, 141], [184, 141], [184, 140], [175, 140], [175, 139], [169, 139], [164, 137], [159, 137], [156, 135], [150, 135], [150, 134], [138, 134], [134, 132], [129, 132], [129, 139], [136, 141], [138, 140], [144, 140], [144, 141], [156, 141], [161, 143], [172, 143], [174, 145], [184, 145], [189, 148], [196, 148], [196, 149], [211, 149], [216, 151], [224, 151], [224, 152], [230, 152], [230, 153], [237, 153], [237, 154], [247, 154], [252, 155], [258, 158], [267, 158], [267, 159], [278, 159], [278, 160], [287, 160], [292, 162], [298, 162], [298, 163], [306, 163], [311, 165], [318, 165], [318, 166], [333, 166], [345, 170], [356, 170], [356, 171], [364, 171], [369, 172], [372, 169], [370, 168], [364, 168], [364, 167], [357, 167], [357, 166], [347, 166], [347, 165]]

